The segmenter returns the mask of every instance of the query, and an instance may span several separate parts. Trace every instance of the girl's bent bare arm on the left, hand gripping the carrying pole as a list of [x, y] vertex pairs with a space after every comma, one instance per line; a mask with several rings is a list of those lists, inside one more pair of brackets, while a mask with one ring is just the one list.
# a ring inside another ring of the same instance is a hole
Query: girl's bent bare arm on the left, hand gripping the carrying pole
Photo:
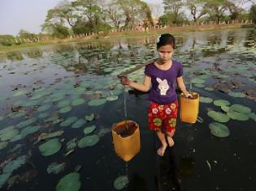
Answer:
[[128, 85], [129, 87], [133, 87], [139, 91], [149, 91], [150, 85], [151, 85], [151, 78], [145, 75], [144, 82], [141, 84], [141, 83], [134, 83], [128, 80], [126, 77], [122, 77], [121, 83], [124, 85]]

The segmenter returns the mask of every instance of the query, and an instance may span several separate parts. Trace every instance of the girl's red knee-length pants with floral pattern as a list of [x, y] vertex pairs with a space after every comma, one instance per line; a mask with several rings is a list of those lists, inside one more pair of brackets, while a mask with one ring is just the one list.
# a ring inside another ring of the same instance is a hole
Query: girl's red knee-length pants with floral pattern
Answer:
[[165, 128], [167, 132], [175, 130], [178, 112], [178, 101], [171, 104], [161, 105], [150, 103], [148, 110], [149, 127], [152, 130]]

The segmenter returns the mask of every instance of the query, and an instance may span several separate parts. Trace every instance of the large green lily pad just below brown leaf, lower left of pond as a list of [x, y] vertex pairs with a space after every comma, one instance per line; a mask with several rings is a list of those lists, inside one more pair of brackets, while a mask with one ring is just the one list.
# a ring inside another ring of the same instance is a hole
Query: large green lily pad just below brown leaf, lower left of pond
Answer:
[[49, 156], [57, 153], [61, 148], [59, 138], [50, 139], [48, 142], [45, 142], [39, 146], [39, 151], [41, 155]]

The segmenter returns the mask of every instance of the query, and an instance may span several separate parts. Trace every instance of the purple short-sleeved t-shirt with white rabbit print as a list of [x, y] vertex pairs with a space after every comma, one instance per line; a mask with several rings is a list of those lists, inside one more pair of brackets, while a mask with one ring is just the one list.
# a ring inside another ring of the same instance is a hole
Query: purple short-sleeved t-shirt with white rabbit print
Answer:
[[171, 104], [177, 99], [176, 79], [183, 74], [180, 62], [172, 60], [169, 70], [161, 70], [154, 62], [145, 66], [144, 74], [151, 78], [149, 100], [157, 104]]

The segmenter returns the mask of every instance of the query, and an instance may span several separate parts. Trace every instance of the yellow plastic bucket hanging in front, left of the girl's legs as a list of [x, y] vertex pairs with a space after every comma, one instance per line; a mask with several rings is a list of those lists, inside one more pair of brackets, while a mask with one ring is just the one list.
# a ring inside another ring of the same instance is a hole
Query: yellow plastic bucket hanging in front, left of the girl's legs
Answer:
[[112, 125], [112, 136], [116, 155], [126, 162], [141, 150], [140, 129], [134, 121], [120, 121]]

